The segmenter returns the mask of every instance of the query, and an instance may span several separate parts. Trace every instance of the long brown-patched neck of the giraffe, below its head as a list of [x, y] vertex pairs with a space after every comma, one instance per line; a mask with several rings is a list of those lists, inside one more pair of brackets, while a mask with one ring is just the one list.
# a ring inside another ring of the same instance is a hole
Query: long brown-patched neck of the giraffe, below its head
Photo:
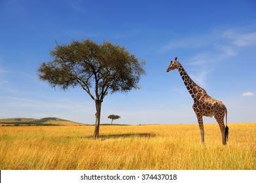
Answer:
[[182, 67], [182, 65], [180, 63], [179, 63], [179, 67], [177, 69], [179, 71], [179, 74], [181, 75], [181, 78], [182, 78], [187, 90], [191, 94], [191, 97], [192, 97], [192, 99], [194, 99], [194, 101], [196, 101], [196, 98], [198, 97], [198, 95], [207, 95], [206, 91], [204, 89], [200, 88], [200, 86], [198, 86], [191, 79], [191, 77], [187, 74], [187, 72], [185, 71], [185, 69]]

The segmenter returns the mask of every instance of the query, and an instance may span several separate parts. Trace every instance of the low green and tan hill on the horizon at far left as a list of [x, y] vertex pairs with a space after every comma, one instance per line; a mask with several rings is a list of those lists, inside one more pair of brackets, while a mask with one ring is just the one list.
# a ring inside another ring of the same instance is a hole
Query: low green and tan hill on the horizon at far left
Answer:
[[0, 119], [0, 125], [84, 125], [60, 118], [8, 118]]

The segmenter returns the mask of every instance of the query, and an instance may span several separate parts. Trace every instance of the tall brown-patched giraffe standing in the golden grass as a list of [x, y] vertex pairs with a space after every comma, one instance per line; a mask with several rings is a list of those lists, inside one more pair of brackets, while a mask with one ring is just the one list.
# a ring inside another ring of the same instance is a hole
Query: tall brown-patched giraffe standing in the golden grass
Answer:
[[[181, 78], [183, 79], [187, 90], [189, 91], [192, 99], [194, 100], [192, 108], [194, 109], [194, 112], [196, 113], [196, 118], [198, 120], [202, 144], [204, 144], [204, 123], [202, 118], [203, 116], [214, 116], [215, 120], [217, 120], [217, 123], [219, 124], [219, 128], [221, 129], [223, 145], [227, 144], [229, 127], [227, 126], [227, 108], [225, 107], [225, 105], [221, 101], [210, 97], [206, 93], [206, 90], [200, 88], [200, 86], [193, 82], [185, 69], [183, 69], [182, 65], [177, 61], [177, 58], [175, 58], [174, 61], [171, 61], [170, 66], [166, 70], [166, 73], [174, 69], [177, 69], [179, 71], [179, 74], [181, 75]], [[225, 115], [226, 127], [224, 125]]]

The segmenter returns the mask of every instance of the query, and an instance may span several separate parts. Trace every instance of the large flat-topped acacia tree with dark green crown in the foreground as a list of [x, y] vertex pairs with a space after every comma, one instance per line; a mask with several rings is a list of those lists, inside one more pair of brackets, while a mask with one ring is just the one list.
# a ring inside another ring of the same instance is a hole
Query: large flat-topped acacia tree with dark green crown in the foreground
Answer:
[[109, 93], [129, 92], [145, 75], [145, 61], [139, 61], [126, 48], [86, 39], [70, 44], [56, 44], [50, 51], [52, 61], [44, 62], [37, 70], [39, 78], [56, 88], [67, 90], [80, 86], [95, 101], [96, 124], [94, 138], [100, 131], [101, 103]]

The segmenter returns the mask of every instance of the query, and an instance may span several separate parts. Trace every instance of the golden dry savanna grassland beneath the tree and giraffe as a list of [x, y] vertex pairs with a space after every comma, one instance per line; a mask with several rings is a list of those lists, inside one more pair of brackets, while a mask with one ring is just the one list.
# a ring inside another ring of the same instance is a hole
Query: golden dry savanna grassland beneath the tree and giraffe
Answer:
[[256, 169], [256, 123], [204, 126], [1, 126], [0, 169]]

